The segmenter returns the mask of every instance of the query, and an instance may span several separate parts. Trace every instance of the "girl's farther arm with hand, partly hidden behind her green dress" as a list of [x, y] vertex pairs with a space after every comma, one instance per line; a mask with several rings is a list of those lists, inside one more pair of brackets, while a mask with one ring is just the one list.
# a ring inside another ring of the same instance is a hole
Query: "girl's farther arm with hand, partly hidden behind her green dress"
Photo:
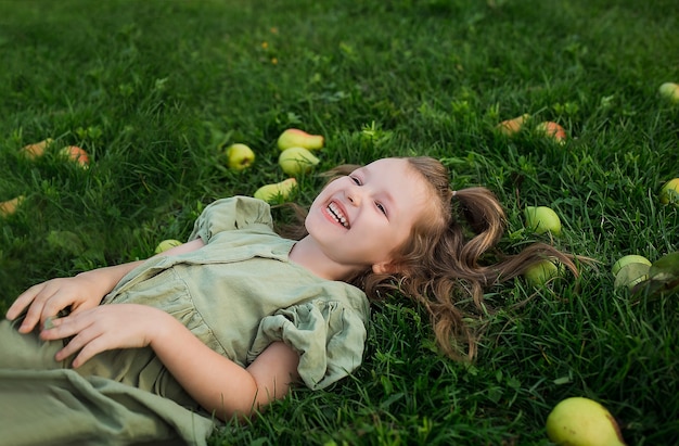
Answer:
[[[175, 246], [158, 255], [182, 254], [201, 249], [204, 245], [201, 239]], [[44, 324], [62, 309], [71, 307], [71, 311], [78, 313], [93, 308], [132, 269], [144, 260], [130, 262], [90, 271], [80, 272], [72, 278], [59, 278], [38, 283], [22, 293], [10, 306], [7, 318], [16, 319], [22, 311], [28, 308], [18, 331], [28, 333], [38, 322]]]

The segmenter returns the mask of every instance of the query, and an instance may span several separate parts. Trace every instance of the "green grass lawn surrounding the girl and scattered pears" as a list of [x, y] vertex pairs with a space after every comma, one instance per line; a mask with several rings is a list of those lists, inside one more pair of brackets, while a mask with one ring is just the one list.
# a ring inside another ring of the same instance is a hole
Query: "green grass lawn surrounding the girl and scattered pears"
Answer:
[[[375, 306], [364, 365], [322, 392], [297, 390], [214, 445], [547, 445], [562, 398], [588, 396], [630, 445], [679, 437], [677, 294], [632, 298], [612, 263], [679, 251], [679, 212], [656, 194], [679, 176], [674, 1], [329, 0], [0, 1], [0, 310], [55, 276], [153, 254], [185, 238], [204, 205], [284, 175], [287, 127], [326, 137], [318, 171], [426, 154], [456, 188], [485, 184], [509, 214], [525, 205], [564, 222], [554, 243], [594, 257], [579, 282], [522, 280], [490, 290], [496, 311], [473, 366], [434, 347], [402, 296]], [[572, 137], [508, 139], [530, 113]], [[18, 150], [44, 138], [86, 149], [87, 170]], [[220, 150], [257, 153], [244, 173]], [[299, 178], [309, 204], [322, 179]], [[36, 421], [38, 422], [38, 421]]]

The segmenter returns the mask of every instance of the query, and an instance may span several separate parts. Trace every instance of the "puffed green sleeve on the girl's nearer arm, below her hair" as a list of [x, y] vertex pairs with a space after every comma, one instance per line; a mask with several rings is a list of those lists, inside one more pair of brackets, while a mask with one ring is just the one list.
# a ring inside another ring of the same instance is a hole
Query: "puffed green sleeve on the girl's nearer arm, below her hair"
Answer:
[[367, 313], [337, 301], [312, 300], [280, 309], [261, 320], [248, 360], [271, 342], [283, 341], [299, 354], [297, 371], [312, 390], [323, 388], [360, 366]]

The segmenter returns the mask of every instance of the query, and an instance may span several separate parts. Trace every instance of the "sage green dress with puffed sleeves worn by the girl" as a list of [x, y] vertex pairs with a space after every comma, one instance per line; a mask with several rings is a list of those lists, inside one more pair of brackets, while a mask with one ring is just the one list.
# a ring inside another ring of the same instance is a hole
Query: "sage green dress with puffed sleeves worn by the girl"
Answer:
[[[273, 232], [266, 203], [218, 200], [196, 220], [190, 240], [196, 238], [205, 246], [150, 258], [102, 304], [161, 308], [243, 367], [283, 341], [299, 353], [310, 388], [360, 365], [364, 293], [290, 262], [295, 241]], [[206, 444], [216, 421], [151, 348], [104, 352], [71, 369], [53, 359], [62, 341], [20, 334], [17, 323], [0, 321], [0, 445]]]

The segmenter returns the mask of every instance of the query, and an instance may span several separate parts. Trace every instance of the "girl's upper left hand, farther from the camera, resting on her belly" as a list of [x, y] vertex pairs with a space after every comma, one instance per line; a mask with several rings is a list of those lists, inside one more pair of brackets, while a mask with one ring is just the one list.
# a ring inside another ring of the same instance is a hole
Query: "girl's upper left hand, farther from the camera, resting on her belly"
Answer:
[[49, 318], [67, 307], [73, 314], [95, 307], [105, 293], [106, 290], [102, 290], [101, 283], [91, 275], [48, 280], [22, 293], [10, 306], [7, 318], [14, 320], [28, 308], [18, 329], [20, 333], [28, 333], [38, 322], [44, 326]]

